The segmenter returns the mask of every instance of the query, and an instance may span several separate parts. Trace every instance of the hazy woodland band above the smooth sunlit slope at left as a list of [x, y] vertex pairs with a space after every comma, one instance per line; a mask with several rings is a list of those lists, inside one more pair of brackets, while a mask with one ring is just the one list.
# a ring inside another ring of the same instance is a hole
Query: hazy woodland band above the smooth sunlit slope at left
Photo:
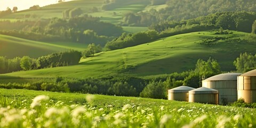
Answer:
[[[72, 41], [104, 46], [122, 34], [122, 27], [100, 21], [89, 15], [70, 19], [52, 18], [38, 21], [0, 21], [0, 34], [34, 41]], [[109, 33], [111, 30], [111, 33]]]

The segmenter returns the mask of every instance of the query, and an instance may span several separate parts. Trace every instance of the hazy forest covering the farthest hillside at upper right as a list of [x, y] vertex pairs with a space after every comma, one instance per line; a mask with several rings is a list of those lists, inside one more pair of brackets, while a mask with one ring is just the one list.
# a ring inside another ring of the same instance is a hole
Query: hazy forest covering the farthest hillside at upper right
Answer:
[[166, 21], [181, 21], [203, 17], [217, 12], [255, 12], [256, 2], [250, 0], [169, 0], [151, 1], [151, 4], [166, 4], [163, 9], [143, 11], [138, 13], [126, 13], [123, 15], [123, 26], [150, 26], [153, 23]]

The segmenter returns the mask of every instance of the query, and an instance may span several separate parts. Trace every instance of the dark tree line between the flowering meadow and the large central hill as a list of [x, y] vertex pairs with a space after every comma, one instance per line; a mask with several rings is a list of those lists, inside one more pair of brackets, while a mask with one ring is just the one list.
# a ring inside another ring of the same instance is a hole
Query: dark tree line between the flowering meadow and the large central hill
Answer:
[[210, 58], [207, 61], [199, 59], [195, 70], [158, 75], [153, 78], [140, 78], [122, 74], [83, 79], [56, 77], [51, 82], [2, 83], [0, 87], [166, 99], [168, 89], [181, 85], [199, 87], [202, 76], [210, 77], [219, 73], [221, 71], [218, 62]]

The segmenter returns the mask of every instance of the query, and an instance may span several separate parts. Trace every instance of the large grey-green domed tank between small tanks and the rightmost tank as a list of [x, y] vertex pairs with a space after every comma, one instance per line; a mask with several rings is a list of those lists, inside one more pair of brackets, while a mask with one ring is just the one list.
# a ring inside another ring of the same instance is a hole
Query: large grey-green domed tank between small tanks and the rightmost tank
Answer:
[[227, 105], [237, 100], [237, 76], [240, 73], [219, 74], [202, 81], [202, 86], [219, 91], [219, 104]]

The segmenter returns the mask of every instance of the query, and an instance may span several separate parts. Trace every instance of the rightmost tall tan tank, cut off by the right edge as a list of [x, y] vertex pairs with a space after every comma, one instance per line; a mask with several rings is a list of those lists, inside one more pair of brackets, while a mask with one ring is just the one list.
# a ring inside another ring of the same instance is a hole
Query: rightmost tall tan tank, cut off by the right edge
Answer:
[[237, 77], [237, 98], [247, 103], [256, 102], [256, 69]]

